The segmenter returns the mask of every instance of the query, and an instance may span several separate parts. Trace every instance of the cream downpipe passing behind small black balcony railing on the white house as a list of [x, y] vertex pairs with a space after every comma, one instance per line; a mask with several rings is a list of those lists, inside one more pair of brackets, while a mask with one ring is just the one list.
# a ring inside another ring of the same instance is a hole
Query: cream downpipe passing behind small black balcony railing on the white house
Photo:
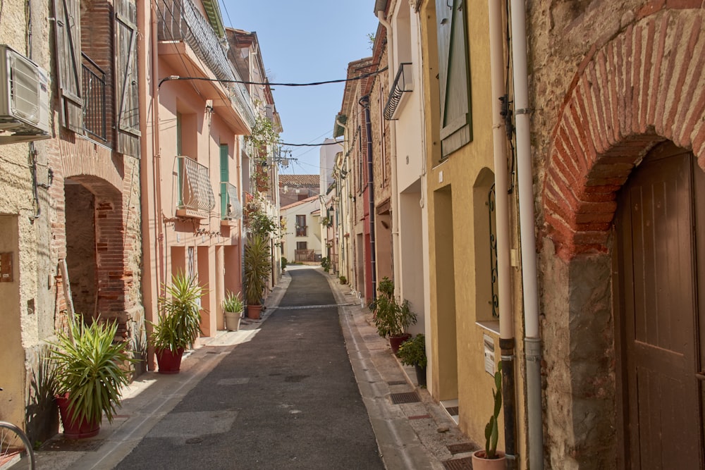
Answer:
[[[379, 4], [379, 2], [377, 2]], [[377, 6], [377, 5], [376, 5]], [[392, 25], [386, 20], [384, 10], [377, 10], [377, 19], [387, 30], [387, 63], [394, 63], [394, 41], [392, 37]], [[394, 83], [394, 73], [387, 73], [388, 88]], [[396, 121], [389, 122], [389, 153], [391, 157], [392, 170], [392, 261], [394, 266], [394, 297], [401, 295], [401, 247], [399, 246], [399, 193], [397, 181], [397, 159], [396, 159]]]

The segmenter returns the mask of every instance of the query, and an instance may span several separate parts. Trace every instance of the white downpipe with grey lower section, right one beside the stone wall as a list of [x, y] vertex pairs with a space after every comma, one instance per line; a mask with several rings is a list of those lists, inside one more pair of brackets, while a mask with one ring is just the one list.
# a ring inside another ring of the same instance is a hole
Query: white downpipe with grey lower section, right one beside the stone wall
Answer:
[[534, 219], [534, 177], [529, 135], [529, 79], [525, 0], [512, 0], [512, 51], [514, 101], [517, 127], [517, 178], [522, 242], [525, 351], [527, 367], [527, 414], [529, 421], [529, 468], [544, 468], [544, 430], [541, 409], [541, 338], [539, 336], [539, 288]]

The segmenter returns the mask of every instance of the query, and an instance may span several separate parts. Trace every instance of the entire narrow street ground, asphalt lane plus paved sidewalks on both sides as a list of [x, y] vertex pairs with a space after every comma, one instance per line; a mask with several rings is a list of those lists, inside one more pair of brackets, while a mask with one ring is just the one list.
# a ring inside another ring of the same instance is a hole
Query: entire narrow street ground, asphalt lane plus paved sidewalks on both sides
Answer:
[[443, 469], [462, 457], [448, 445], [467, 439], [426, 390], [393, 403], [415, 384], [328, 277], [291, 266], [262, 321], [243, 319], [178, 374], [138, 377], [114, 423], [87, 440], [57, 435], [37, 468]]

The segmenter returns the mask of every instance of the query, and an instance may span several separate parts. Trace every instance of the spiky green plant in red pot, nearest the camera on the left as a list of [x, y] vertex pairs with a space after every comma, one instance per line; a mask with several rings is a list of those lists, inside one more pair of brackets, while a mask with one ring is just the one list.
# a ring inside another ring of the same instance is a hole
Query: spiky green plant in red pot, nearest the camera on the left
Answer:
[[51, 381], [66, 438], [97, 435], [103, 415], [113, 421], [121, 388], [129, 382], [127, 366], [137, 361], [124, 342], [114, 342], [117, 331], [114, 321], [85, 325], [70, 318], [68, 333], [60, 332], [59, 340], [50, 343]]

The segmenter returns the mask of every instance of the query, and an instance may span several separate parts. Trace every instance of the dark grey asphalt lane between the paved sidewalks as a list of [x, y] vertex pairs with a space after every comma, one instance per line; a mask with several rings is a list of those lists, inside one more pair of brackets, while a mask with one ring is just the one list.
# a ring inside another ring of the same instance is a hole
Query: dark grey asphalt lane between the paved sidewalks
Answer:
[[384, 468], [331, 289], [313, 269], [290, 276], [262, 330], [229, 352], [118, 469]]

